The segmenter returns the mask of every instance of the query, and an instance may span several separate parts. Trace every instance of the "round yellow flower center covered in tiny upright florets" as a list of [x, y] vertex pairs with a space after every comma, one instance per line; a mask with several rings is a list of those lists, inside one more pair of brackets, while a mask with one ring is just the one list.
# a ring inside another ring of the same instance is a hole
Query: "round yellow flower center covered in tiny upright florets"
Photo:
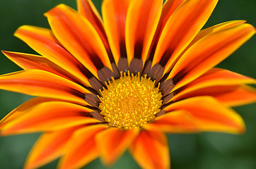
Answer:
[[159, 85], [150, 78], [121, 73], [118, 80], [106, 82], [107, 89], [98, 96], [100, 113], [112, 127], [131, 129], [140, 127], [155, 118], [162, 105]]

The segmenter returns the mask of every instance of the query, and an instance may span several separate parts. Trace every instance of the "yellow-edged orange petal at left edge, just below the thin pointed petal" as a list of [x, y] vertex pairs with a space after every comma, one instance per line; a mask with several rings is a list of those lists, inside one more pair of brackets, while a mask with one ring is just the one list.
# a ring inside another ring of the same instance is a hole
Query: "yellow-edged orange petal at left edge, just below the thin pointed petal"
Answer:
[[84, 94], [88, 93], [80, 85], [43, 70], [22, 70], [1, 75], [0, 89], [74, 101], [83, 105], [86, 104]]

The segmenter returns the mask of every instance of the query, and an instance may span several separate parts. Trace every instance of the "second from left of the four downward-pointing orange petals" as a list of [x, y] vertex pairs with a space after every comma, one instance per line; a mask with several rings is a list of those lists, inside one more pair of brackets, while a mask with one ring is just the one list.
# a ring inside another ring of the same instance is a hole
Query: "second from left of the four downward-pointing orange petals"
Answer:
[[100, 152], [96, 146], [95, 135], [106, 128], [107, 125], [91, 125], [75, 132], [66, 146], [59, 168], [81, 168], [97, 158]]

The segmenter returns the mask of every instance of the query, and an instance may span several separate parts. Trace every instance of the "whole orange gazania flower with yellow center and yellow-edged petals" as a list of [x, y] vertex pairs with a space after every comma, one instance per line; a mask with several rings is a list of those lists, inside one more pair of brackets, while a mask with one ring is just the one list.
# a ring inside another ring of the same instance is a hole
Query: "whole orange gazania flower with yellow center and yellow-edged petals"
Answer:
[[244, 20], [201, 30], [216, 0], [91, 0], [45, 13], [51, 30], [15, 36], [39, 55], [3, 53], [24, 70], [0, 88], [37, 96], [1, 120], [1, 134], [42, 132], [25, 168], [60, 157], [112, 165], [129, 149], [141, 168], [170, 168], [164, 133], [244, 132], [230, 107], [256, 101], [255, 80], [214, 68], [255, 34]]

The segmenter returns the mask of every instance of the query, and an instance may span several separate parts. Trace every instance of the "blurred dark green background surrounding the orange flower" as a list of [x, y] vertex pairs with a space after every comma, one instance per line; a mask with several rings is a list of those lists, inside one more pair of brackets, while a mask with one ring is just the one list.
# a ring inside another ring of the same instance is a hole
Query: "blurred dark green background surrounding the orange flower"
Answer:
[[[118, 1], [118, 0], [117, 0]], [[139, 0], [138, 0], [139, 1]], [[101, 1], [93, 1], [100, 9]], [[42, 15], [57, 4], [66, 4], [76, 8], [75, 0], [0, 0], [0, 49], [35, 54], [21, 40], [13, 37], [13, 32], [21, 25], [49, 27]], [[256, 26], [255, 0], [219, 1], [213, 15], [205, 27], [228, 20], [248, 20]], [[256, 36], [252, 37], [220, 68], [256, 77]], [[20, 70], [18, 66], [0, 54], [0, 74]], [[0, 118], [30, 99], [30, 96], [0, 91]], [[235, 108], [243, 116], [247, 132], [241, 135], [223, 133], [170, 134], [168, 135], [172, 168], [207, 169], [255, 169], [256, 168], [256, 104]], [[0, 168], [22, 168], [25, 158], [40, 134], [22, 134], [0, 137]], [[57, 161], [42, 168], [55, 168]], [[104, 168], [97, 159], [85, 168]], [[126, 153], [112, 168], [139, 168], [132, 157]]]

